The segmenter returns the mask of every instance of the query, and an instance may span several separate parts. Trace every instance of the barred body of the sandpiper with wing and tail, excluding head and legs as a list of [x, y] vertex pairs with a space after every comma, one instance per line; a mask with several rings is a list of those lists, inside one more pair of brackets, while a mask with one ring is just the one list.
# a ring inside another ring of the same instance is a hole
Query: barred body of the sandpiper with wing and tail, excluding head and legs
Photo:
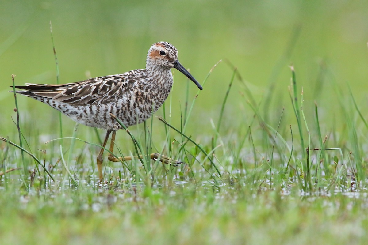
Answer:
[[121, 126], [110, 113], [128, 127], [145, 121], [158, 110], [172, 85], [171, 71], [167, 71], [160, 77], [137, 69], [77, 83], [15, 87], [24, 89], [17, 93], [42, 101], [78, 123], [117, 130]]

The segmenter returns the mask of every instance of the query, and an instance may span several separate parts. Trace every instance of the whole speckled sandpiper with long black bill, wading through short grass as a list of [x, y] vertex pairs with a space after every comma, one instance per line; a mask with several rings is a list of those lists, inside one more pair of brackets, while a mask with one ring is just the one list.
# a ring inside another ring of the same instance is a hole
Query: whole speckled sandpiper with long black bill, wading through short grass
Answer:
[[[106, 129], [102, 147], [112, 133], [110, 151], [113, 152], [116, 130], [121, 129], [115, 115], [126, 127], [144, 122], [156, 112], [169, 96], [173, 85], [171, 68], [176, 68], [192, 80], [200, 90], [202, 86], [178, 61], [177, 49], [167, 42], [158, 42], [148, 50], [146, 69], [137, 69], [123, 74], [100, 76], [76, 83], [31, 84], [15, 86], [17, 93], [42, 101], [61, 111], [75, 122], [90, 127]], [[101, 148], [97, 156], [100, 181], [102, 174]], [[116, 158], [109, 154], [113, 162], [131, 160], [131, 157]], [[158, 153], [151, 159], [177, 165], [180, 161]]]

